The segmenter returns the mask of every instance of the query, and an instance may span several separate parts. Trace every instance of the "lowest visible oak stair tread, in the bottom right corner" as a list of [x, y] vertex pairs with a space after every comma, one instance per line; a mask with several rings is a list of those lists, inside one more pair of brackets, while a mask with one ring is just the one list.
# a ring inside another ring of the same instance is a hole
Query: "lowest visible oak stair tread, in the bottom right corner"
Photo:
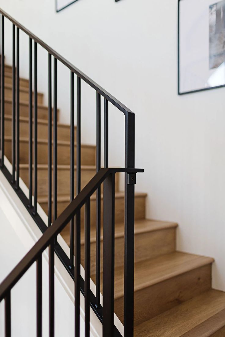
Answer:
[[211, 289], [135, 327], [134, 336], [183, 337], [224, 308], [225, 293]]

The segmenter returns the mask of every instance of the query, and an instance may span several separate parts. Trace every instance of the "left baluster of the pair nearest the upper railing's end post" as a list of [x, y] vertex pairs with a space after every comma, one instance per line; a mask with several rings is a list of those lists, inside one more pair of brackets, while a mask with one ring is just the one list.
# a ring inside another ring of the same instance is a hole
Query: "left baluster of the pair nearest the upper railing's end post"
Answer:
[[[101, 168], [101, 95], [96, 93], [96, 172]], [[100, 305], [101, 274], [101, 186], [96, 190], [96, 307]]]

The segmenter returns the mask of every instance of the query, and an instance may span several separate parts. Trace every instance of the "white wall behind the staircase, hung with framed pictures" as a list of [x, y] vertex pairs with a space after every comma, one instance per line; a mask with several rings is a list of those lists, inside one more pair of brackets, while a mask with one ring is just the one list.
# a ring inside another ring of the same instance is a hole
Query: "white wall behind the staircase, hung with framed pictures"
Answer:
[[[177, 221], [177, 248], [213, 256], [213, 285], [225, 290], [224, 89], [177, 95], [177, 0], [79, 0], [58, 14], [54, 0], [1, 7], [135, 112], [136, 166], [145, 169], [136, 190], [148, 193], [147, 217]], [[86, 142], [94, 142], [94, 98], [83, 105]], [[117, 165], [123, 119], [110, 111]]]

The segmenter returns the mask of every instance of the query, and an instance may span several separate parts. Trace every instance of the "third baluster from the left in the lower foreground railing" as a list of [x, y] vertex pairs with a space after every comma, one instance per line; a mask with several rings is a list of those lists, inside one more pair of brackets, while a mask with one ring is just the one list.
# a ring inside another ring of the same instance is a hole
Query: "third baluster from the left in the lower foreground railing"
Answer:
[[54, 240], [49, 246], [49, 337], [54, 337], [55, 298], [54, 298]]

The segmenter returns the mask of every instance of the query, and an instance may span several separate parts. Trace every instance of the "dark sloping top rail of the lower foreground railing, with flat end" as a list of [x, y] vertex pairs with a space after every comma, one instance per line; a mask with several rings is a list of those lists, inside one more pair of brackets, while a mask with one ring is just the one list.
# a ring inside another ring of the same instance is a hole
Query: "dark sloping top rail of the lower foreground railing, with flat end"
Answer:
[[41, 238], [34, 244], [30, 251], [18, 263], [18, 265], [10, 272], [10, 274], [0, 284], [0, 302], [4, 299], [7, 292], [19, 281], [30, 266], [37, 260], [38, 256], [49, 246], [51, 241], [62, 231], [67, 223], [75, 216], [87, 201], [87, 199], [94, 193], [105, 178], [109, 174], [118, 172], [138, 173], [144, 172], [143, 169], [138, 168], [101, 168], [89, 183], [82, 189], [82, 191], [75, 197], [75, 199], [65, 208], [60, 216], [53, 222]]

